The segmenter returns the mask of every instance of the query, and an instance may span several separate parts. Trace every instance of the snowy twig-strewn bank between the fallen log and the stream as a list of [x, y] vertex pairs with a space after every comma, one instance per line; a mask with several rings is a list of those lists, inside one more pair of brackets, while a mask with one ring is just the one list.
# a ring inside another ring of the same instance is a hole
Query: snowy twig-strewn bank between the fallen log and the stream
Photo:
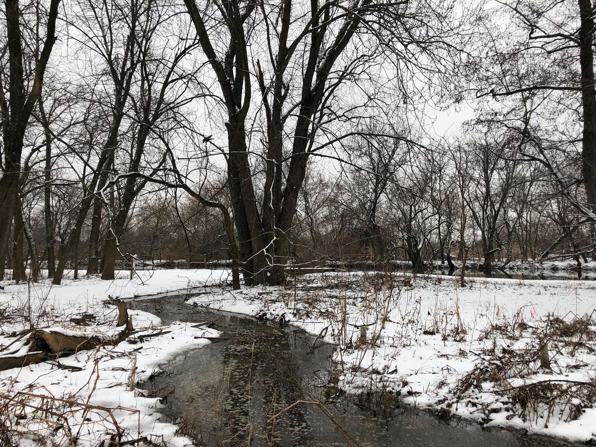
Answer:
[[140, 331], [116, 346], [2, 371], [2, 432], [14, 442], [3, 445], [191, 444], [176, 435], [176, 426], [160, 421], [159, 398], [146, 395], [142, 382], [185, 349], [217, 336], [206, 327], [175, 323]]

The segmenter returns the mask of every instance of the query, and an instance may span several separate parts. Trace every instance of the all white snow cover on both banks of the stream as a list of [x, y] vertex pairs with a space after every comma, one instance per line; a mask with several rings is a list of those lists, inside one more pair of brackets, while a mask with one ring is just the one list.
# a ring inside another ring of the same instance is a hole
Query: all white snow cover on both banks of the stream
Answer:
[[[133, 280], [120, 272], [110, 282], [65, 279], [59, 287], [5, 284], [0, 348], [13, 343], [7, 351], [26, 352], [26, 337], [18, 335], [29, 322], [63, 333], [115, 336], [120, 329], [116, 308], [105, 304], [109, 296], [210, 285], [189, 303], [289, 323], [336, 344], [339, 384], [350, 392], [373, 387], [485, 426], [579, 442], [596, 438], [595, 282], [468, 278], [462, 288], [457, 278], [440, 275], [339, 272], [307, 275], [298, 287], [233, 291], [222, 285], [226, 281], [229, 271], [197, 269], [142, 271]], [[95, 446], [117, 436], [191, 444], [175, 425], [160, 421], [161, 404], [143, 392], [142, 382], [218, 333], [184, 322], [163, 326], [156, 315], [130, 312], [138, 332], [116, 346], [0, 371], [0, 401], [10, 405], [20, 445], [39, 445], [42, 438], [65, 445], [76, 437], [78, 445]], [[71, 321], [85, 314], [95, 316], [88, 326]], [[585, 315], [591, 316], [581, 320], [586, 326], [579, 335], [552, 335], [557, 324]], [[148, 334], [155, 336], [142, 337]], [[551, 369], [538, 356], [544, 340]], [[550, 403], [520, 404], [523, 396], [515, 390], [542, 383], [551, 386], [544, 398]], [[54, 416], [42, 419], [34, 408]]]

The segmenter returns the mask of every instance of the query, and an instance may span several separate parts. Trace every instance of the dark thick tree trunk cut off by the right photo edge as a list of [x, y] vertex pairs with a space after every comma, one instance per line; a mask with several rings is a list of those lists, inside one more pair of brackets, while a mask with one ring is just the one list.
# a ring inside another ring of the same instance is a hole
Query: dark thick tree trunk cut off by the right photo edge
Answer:
[[590, 0], [579, 0], [579, 65], [582, 74], [583, 181], [588, 203], [596, 212], [596, 89], [594, 88], [594, 10]]

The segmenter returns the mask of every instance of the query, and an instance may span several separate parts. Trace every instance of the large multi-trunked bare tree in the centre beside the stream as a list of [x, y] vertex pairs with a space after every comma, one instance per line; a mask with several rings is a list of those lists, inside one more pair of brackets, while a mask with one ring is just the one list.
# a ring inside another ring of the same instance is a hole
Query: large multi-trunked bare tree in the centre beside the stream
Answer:
[[[226, 0], [203, 9], [185, 0], [185, 5], [225, 108], [228, 181], [245, 281], [281, 284], [309, 158], [353, 135], [339, 123], [356, 119], [373, 101], [362, 92], [364, 100], [342, 108], [337, 93], [370, 79], [378, 58], [392, 61], [399, 73], [414, 66], [418, 75], [446, 69], [451, 61], [442, 35], [446, 15], [438, 5], [401, 1], [311, 2], [303, 5], [306, 14], [296, 14], [290, 0], [272, 5]], [[254, 51], [257, 47], [263, 51]], [[255, 79], [259, 103], [253, 101]], [[255, 116], [265, 117], [260, 207], [249, 157], [252, 107]]]

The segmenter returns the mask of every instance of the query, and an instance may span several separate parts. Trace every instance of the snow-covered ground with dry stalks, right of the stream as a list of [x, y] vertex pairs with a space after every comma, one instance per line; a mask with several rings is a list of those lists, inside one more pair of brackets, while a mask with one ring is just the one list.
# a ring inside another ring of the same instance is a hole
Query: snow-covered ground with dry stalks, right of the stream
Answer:
[[594, 282], [474, 278], [461, 288], [452, 277], [338, 273], [190, 302], [336, 343], [345, 389], [400, 393], [486, 426], [596, 439]]

